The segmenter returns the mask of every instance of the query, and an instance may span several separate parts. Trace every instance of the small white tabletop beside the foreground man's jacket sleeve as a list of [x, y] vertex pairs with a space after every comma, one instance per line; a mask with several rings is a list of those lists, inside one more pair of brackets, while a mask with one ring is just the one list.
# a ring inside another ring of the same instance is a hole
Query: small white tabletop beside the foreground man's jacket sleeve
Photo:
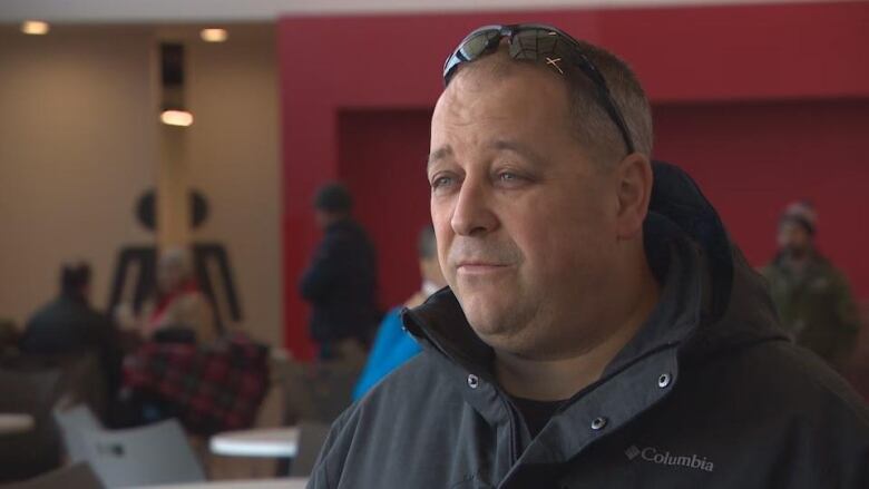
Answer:
[[234, 457], [287, 457], [299, 453], [299, 428], [227, 431], [212, 437], [212, 453]]

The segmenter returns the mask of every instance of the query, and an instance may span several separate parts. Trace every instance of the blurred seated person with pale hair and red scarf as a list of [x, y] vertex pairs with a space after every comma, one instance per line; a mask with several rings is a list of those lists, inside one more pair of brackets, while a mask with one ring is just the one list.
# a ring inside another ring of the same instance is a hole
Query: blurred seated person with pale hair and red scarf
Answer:
[[169, 247], [157, 261], [154, 296], [136, 316], [126, 304], [116, 311], [118, 322], [146, 340], [211, 344], [217, 336], [212, 303], [199, 291], [189, 253]]

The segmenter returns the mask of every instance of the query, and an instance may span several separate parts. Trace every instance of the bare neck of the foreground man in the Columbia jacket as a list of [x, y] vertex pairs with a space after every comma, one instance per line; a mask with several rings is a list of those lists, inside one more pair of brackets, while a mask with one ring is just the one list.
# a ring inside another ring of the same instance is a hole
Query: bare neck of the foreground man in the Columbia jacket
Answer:
[[651, 270], [633, 288], [633, 301], [608, 334], [580, 353], [557, 360], [528, 359], [507, 352], [495, 354], [495, 374], [511, 395], [538, 401], [569, 399], [596, 382], [606, 365], [634, 338], [657, 304], [660, 286]]

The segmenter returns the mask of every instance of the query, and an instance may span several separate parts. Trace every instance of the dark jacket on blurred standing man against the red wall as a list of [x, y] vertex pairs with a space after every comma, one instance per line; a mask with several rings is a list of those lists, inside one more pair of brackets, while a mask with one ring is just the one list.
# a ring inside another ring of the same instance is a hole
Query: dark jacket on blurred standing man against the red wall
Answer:
[[326, 227], [299, 290], [313, 306], [315, 341], [367, 339], [379, 317], [377, 260], [365, 231], [350, 218]]

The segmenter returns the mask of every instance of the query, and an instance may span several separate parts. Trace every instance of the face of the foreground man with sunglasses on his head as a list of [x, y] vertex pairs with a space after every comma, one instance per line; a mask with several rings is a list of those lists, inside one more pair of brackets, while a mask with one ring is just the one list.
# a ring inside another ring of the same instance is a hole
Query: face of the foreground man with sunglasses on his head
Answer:
[[459, 72], [439, 99], [431, 217], [447, 283], [477, 334], [555, 359], [595, 334], [586, 326], [616, 260], [617, 185], [570, 134], [563, 81], [511, 71]]

